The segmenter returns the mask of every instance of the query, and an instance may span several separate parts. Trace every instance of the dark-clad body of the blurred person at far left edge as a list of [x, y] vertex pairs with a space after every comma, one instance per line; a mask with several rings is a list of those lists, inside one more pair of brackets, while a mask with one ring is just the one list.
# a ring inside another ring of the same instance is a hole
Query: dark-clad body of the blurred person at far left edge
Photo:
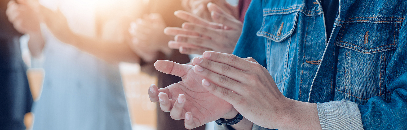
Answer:
[[33, 98], [21, 57], [22, 34], [8, 20], [8, 2], [0, 0], [0, 130], [25, 130], [24, 114], [31, 111]]

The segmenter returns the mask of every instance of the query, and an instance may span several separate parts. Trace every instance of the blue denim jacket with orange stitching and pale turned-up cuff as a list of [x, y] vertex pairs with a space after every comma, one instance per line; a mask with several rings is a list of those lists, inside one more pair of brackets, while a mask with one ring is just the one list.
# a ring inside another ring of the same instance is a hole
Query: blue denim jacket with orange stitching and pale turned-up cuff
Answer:
[[323, 13], [319, 0], [253, 0], [234, 54], [317, 103], [324, 130], [407, 129], [407, 0], [340, 0], [328, 38]]

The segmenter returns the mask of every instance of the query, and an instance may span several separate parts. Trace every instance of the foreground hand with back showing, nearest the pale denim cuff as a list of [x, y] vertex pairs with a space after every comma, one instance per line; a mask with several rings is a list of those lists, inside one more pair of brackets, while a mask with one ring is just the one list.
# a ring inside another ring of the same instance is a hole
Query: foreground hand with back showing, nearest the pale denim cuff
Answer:
[[284, 97], [267, 69], [253, 58], [204, 52], [203, 58], [193, 59], [193, 65], [204, 78], [204, 88], [254, 124], [280, 130], [321, 129], [316, 104]]

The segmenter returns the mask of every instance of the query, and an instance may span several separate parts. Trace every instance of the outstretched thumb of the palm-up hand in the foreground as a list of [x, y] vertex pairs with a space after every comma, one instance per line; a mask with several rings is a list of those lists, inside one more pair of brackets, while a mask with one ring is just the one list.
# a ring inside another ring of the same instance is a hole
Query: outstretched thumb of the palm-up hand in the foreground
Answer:
[[155, 69], [165, 74], [171, 74], [178, 77], [184, 77], [192, 66], [175, 63], [173, 61], [158, 60], [154, 63]]

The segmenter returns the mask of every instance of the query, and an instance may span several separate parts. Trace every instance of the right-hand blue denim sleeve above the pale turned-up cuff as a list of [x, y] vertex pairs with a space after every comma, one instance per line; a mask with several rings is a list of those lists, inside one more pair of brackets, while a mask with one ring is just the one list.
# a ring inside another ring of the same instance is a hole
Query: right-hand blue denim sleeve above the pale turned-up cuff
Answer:
[[398, 47], [386, 69], [386, 88], [392, 93], [390, 102], [372, 97], [359, 106], [363, 128], [405, 130], [407, 129], [407, 23], [403, 22]]

